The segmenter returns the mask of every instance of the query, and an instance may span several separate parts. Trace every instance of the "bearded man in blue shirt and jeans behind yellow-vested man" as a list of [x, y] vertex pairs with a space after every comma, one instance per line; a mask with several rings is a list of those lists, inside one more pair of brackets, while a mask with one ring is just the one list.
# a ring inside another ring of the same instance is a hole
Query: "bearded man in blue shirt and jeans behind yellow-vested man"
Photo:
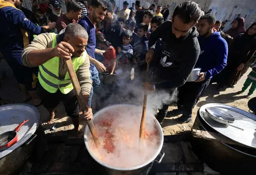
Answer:
[[90, 97], [88, 100], [88, 105], [91, 106], [91, 100], [93, 96], [93, 89], [98, 90], [100, 86], [99, 72], [105, 72], [106, 67], [99, 61], [95, 59], [95, 52], [100, 53], [103, 52], [101, 50], [95, 49], [96, 47], [96, 38], [95, 38], [95, 24], [100, 24], [100, 22], [104, 19], [106, 15], [107, 6], [102, 0], [93, 0], [91, 6], [89, 7], [90, 13], [88, 16], [85, 16], [83, 19], [79, 21], [78, 24], [83, 26], [89, 35], [88, 44], [85, 49], [90, 58], [90, 72], [91, 79], [93, 82], [93, 86], [91, 89]]

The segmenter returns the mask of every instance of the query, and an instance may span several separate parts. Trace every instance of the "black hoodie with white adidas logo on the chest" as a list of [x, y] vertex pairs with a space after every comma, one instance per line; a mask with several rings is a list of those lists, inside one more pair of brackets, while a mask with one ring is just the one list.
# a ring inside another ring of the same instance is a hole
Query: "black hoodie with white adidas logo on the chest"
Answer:
[[149, 38], [149, 48], [155, 47], [154, 61], [158, 63], [154, 73], [156, 89], [173, 89], [185, 84], [200, 53], [196, 27], [179, 38], [171, 28], [172, 22], [166, 21]]

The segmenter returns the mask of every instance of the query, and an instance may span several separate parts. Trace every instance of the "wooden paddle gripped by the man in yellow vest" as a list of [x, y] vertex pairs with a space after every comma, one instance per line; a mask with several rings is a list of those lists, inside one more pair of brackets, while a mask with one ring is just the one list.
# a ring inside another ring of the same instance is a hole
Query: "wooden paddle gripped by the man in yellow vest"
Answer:
[[[81, 107], [81, 109], [86, 112], [87, 111], [87, 105], [86, 105], [86, 101], [85, 101], [85, 98], [82, 94], [82, 91], [81, 91], [81, 87], [80, 87], [80, 84], [79, 84], [79, 81], [77, 79], [77, 76], [76, 76], [76, 73], [75, 73], [75, 70], [74, 70], [74, 66], [72, 64], [72, 60], [69, 59], [64, 59], [65, 61], [65, 64], [68, 68], [68, 74], [69, 74], [69, 77], [71, 79], [71, 82], [73, 84], [73, 87], [75, 89], [75, 94], [77, 96], [77, 100], [79, 102], [79, 106]], [[92, 133], [92, 136], [93, 136], [93, 139], [94, 139], [94, 142], [96, 143], [96, 145], [100, 145], [100, 141], [99, 141], [99, 136], [95, 130], [95, 127], [93, 125], [93, 122], [92, 120], [86, 120], [87, 121], [87, 125], [89, 127], [89, 130], [91, 131]]]

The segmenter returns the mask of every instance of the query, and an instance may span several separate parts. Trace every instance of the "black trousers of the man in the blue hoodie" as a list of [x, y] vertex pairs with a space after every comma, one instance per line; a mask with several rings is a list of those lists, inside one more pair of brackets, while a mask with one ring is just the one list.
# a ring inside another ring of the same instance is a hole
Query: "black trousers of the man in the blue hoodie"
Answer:
[[178, 88], [178, 109], [184, 116], [191, 117], [192, 110], [211, 79], [200, 82], [186, 82]]

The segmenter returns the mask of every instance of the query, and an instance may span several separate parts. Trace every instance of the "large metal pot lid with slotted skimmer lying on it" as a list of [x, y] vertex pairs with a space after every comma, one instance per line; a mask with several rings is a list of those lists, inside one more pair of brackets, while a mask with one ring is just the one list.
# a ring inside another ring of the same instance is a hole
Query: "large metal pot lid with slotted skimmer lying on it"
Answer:
[[[205, 111], [205, 108], [207, 107], [218, 107], [230, 113], [232, 116], [235, 117], [232, 125], [238, 128], [242, 128], [244, 129], [244, 131], [226, 124], [221, 124], [220, 122], [213, 120]], [[252, 148], [256, 148], [256, 116], [252, 113], [230, 105], [219, 103], [209, 103], [203, 105], [202, 107], [200, 107], [199, 113], [200, 117], [205, 121], [205, 123], [213, 128], [215, 131], [219, 132], [220, 134], [228, 137], [233, 141], [244, 144], [246, 146], [250, 146]], [[241, 120], [239, 120], [239, 118], [241, 118]]]

